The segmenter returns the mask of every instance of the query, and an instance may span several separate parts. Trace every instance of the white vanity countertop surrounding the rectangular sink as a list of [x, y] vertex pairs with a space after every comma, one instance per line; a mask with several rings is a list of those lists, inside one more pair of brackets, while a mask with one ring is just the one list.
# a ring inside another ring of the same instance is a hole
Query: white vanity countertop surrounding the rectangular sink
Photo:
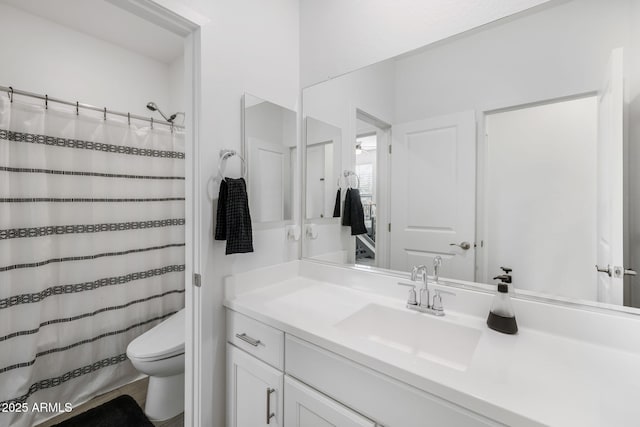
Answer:
[[[486, 327], [485, 317], [447, 309], [445, 300], [447, 314], [437, 321], [481, 331], [469, 366], [459, 370], [335, 327], [368, 304], [407, 310], [402, 298], [300, 275], [266, 284], [256, 282], [256, 277], [245, 278], [253, 282], [247, 285], [236, 276], [231, 286], [240, 284], [243, 289], [228, 292], [225, 305], [488, 418], [513, 426], [640, 425], [636, 352], [522, 324], [515, 336], [501, 334]], [[393, 286], [397, 279], [388, 281]], [[628, 339], [637, 340], [638, 335]]]

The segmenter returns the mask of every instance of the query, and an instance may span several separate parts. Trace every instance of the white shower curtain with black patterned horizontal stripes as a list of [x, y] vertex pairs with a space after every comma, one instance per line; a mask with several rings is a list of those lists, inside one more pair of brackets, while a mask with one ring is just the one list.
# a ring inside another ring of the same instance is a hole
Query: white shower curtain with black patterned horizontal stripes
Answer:
[[0, 426], [137, 377], [184, 306], [184, 182], [178, 131], [0, 96]]

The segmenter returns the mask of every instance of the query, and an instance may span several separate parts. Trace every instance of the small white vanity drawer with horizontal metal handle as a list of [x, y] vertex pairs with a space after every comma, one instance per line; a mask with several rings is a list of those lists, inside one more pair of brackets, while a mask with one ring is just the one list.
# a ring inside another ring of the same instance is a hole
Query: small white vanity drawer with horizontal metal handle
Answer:
[[227, 341], [269, 365], [284, 369], [284, 332], [227, 310]]

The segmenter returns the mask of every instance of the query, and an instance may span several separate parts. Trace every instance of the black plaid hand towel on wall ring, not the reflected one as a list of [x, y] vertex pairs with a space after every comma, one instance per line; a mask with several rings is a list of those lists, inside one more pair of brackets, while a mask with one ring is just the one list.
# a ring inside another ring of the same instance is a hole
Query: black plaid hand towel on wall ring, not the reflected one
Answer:
[[225, 178], [220, 183], [216, 240], [226, 240], [226, 254], [253, 252], [251, 214], [244, 178]]

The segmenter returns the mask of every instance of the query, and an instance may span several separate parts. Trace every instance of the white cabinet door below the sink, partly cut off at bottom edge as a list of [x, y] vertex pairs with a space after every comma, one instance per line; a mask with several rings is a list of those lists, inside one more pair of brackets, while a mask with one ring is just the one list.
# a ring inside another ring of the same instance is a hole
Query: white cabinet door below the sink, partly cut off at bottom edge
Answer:
[[375, 427], [375, 423], [327, 396], [286, 376], [284, 419], [287, 427]]

